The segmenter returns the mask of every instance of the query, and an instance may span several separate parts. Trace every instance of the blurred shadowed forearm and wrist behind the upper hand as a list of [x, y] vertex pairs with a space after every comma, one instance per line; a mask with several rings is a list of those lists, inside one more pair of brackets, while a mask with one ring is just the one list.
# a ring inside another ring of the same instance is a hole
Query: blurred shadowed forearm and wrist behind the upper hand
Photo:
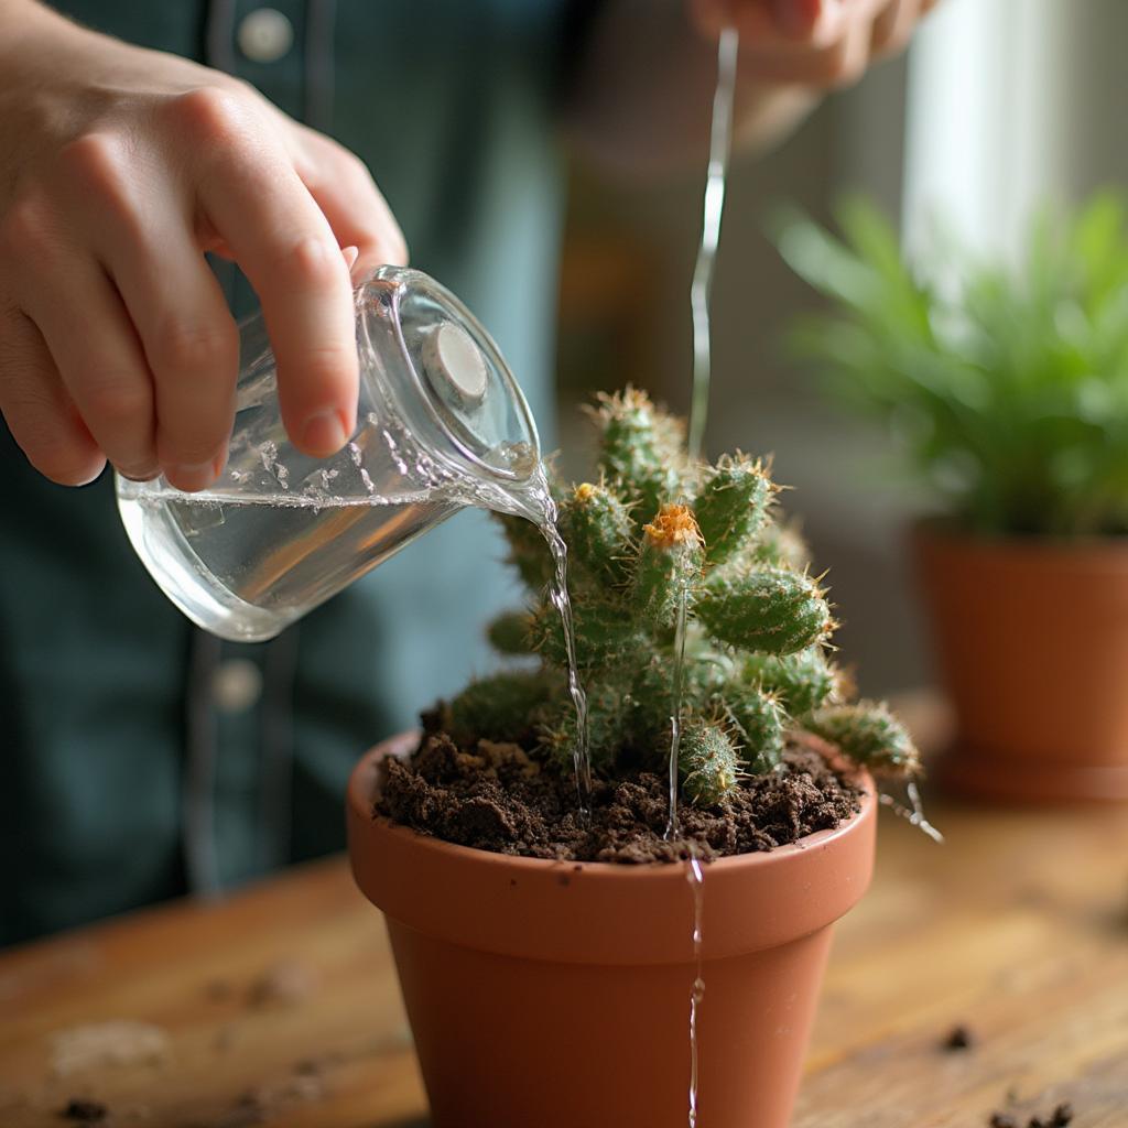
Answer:
[[[716, 82], [716, 44], [689, 24], [684, 0], [613, 0], [591, 28], [569, 106], [582, 156], [617, 173], [703, 160]], [[818, 100], [795, 85], [738, 71], [733, 140], [760, 149]]]

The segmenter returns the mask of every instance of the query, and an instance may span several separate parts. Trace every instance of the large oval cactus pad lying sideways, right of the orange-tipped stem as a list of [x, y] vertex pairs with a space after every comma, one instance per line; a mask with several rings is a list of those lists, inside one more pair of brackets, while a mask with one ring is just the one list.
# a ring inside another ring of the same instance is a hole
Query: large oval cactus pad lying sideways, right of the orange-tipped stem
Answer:
[[696, 614], [720, 642], [767, 654], [805, 650], [832, 628], [818, 583], [785, 569], [735, 576], [715, 573], [698, 597]]

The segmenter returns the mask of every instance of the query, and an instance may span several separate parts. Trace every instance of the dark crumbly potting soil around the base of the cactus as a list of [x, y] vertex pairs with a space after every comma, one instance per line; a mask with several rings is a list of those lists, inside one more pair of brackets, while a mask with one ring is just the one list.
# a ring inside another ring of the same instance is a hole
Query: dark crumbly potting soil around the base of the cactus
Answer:
[[389, 758], [378, 814], [449, 843], [499, 854], [575, 862], [675, 862], [687, 840], [705, 860], [768, 851], [830, 830], [860, 810], [861, 791], [827, 763], [830, 746], [803, 735], [779, 769], [742, 782], [716, 807], [682, 804], [681, 837], [663, 838], [668, 782], [650, 773], [597, 781], [591, 819], [576, 811], [575, 783], [518, 744], [470, 750], [442, 732], [424, 735], [406, 760]]

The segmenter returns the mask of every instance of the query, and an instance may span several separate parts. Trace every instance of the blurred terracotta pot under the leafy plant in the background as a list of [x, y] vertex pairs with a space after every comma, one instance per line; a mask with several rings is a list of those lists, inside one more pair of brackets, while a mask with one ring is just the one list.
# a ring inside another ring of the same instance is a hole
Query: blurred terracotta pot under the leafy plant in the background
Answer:
[[1128, 544], [923, 523], [913, 548], [955, 712], [941, 781], [1007, 800], [1128, 799]]

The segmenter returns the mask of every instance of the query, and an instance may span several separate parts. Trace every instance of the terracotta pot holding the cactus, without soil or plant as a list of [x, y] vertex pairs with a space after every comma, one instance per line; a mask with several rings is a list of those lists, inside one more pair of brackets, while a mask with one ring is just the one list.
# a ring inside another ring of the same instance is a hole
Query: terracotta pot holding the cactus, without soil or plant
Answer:
[[[435, 1128], [684, 1128], [696, 975], [688, 866], [508, 857], [373, 818], [349, 847], [385, 913]], [[834, 831], [704, 866], [699, 1128], [785, 1128], [831, 924], [870, 882], [876, 804]]]

